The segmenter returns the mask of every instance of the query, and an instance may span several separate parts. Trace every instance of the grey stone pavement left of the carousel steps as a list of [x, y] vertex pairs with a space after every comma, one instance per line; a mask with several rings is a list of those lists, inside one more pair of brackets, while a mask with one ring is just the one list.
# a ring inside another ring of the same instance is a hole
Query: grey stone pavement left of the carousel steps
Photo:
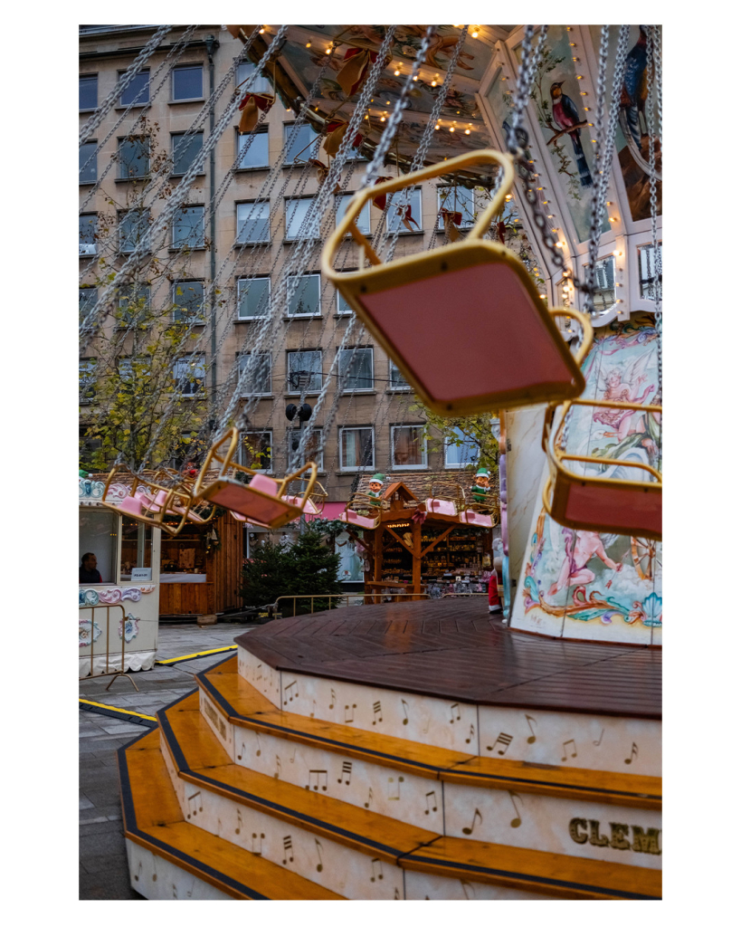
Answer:
[[[160, 626], [157, 659], [185, 656], [217, 647], [228, 647], [252, 626], [218, 624]], [[211, 654], [187, 663], [155, 667], [130, 674], [136, 692], [126, 679], [110, 677], [80, 680], [80, 697], [125, 708], [143, 715], [155, 712], [195, 689], [195, 673], [211, 667], [226, 654]], [[119, 770], [116, 752], [144, 733], [144, 726], [80, 712], [80, 898], [82, 900], [139, 899], [129, 884], [126, 844], [121, 823]]]

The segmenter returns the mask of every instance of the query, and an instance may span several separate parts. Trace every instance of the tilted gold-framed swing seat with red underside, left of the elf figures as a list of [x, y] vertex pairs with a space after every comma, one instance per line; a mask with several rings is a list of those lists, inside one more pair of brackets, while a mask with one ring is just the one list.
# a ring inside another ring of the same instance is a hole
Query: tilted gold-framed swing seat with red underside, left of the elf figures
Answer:
[[[235, 427], [230, 428], [215, 442], [195, 480], [195, 501], [207, 500], [229, 509], [232, 513], [244, 515], [246, 520], [271, 528], [283, 527], [302, 514], [314, 489], [317, 464], [304, 464], [294, 474], [282, 480], [273, 479], [250, 467], [237, 464], [234, 457], [238, 448], [239, 432]], [[218, 476], [213, 483], [206, 485], [208, 471], [214, 463], [219, 467]], [[304, 493], [291, 497], [293, 501], [289, 501], [284, 495], [286, 487], [304, 473], [310, 473]], [[238, 474], [250, 476], [249, 483], [236, 479]]]

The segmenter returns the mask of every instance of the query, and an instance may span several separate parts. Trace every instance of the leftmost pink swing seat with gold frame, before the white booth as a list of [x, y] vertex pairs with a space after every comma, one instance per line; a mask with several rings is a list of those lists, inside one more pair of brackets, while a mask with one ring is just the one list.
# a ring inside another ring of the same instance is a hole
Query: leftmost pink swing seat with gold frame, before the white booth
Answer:
[[[126, 483], [126, 494], [120, 492], [121, 485], [114, 483], [116, 475], [129, 476], [131, 485]], [[163, 486], [159, 474], [133, 473], [126, 466], [114, 466], [107, 476], [106, 488], [103, 490], [101, 504], [114, 512], [127, 515], [144, 525], [158, 527], [172, 536], [180, 533], [185, 524], [193, 497], [181, 484], [174, 487]], [[178, 517], [175, 525], [165, 521], [166, 514]]]

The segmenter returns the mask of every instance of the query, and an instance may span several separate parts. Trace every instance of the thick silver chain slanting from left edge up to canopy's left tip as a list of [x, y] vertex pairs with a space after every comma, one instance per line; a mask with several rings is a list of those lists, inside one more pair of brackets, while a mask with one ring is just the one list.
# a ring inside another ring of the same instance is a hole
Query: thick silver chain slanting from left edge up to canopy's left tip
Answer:
[[[250, 87], [252, 83], [255, 82], [257, 75], [262, 69], [265, 61], [267, 61], [270, 58], [270, 54], [273, 48], [276, 47], [278, 44], [280, 44], [285, 32], [287, 32], [287, 26], [283, 25], [281, 26], [279, 31], [276, 33], [275, 38], [270, 43], [270, 46], [268, 47], [268, 50], [265, 52], [262, 59], [260, 60], [257, 66], [257, 69], [254, 70], [253, 73], [250, 75], [250, 77], [247, 79], [247, 87]], [[227, 77], [224, 79], [225, 82], [231, 79], [233, 72], [236, 70], [238, 63], [241, 62], [242, 55], [244, 54], [245, 54], [245, 49], [243, 49], [242, 54], [239, 57], [234, 59], [232, 68], [230, 68], [230, 70], [227, 73]], [[184, 202], [185, 197], [188, 196], [188, 193], [190, 191], [191, 186], [193, 185], [195, 181], [195, 177], [198, 171], [201, 170], [203, 164], [205, 163], [207, 159], [207, 156], [216, 147], [221, 135], [225, 132], [227, 126], [232, 121], [232, 117], [234, 115], [234, 112], [236, 111], [237, 106], [238, 106], [238, 100], [235, 98], [224, 109], [223, 113], [221, 114], [220, 120], [216, 123], [214, 127], [213, 133], [209, 134], [207, 141], [201, 148], [201, 151], [195, 157], [193, 163], [188, 168], [188, 170], [185, 171], [185, 173], [182, 175], [182, 179], [181, 179], [180, 184], [178, 184], [177, 190], [170, 197], [165, 208], [157, 216], [157, 219], [155, 219], [154, 222], [152, 222], [152, 225], [149, 228], [149, 234], [148, 234], [150, 239], [156, 240], [157, 235], [160, 235], [160, 233], [164, 234], [167, 228], [170, 226], [170, 222], [172, 222], [175, 212], [182, 207], [182, 203]], [[136, 261], [144, 253], [144, 248], [148, 249], [149, 246], [148, 246], [146, 239], [147, 239], [147, 236], [143, 235], [142, 239], [137, 243], [135, 248], [133, 248], [132, 253], [129, 255], [127, 260], [124, 261], [123, 266], [115, 274], [113, 280], [111, 280], [107, 284], [107, 286], [104, 288], [103, 295], [98, 297], [98, 302], [91, 309], [90, 313], [88, 314], [86, 319], [81, 324], [80, 334], [81, 334], [82, 352], [84, 352], [84, 350], [87, 348], [87, 345], [90, 343], [90, 338], [93, 335], [92, 320], [94, 319], [94, 316], [96, 314], [95, 309], [97, 305], [99, 305], [100, 303], [103, 303], [103, 304], [106, 303], [107, 298], [111, 296], [119, 279], [122, 277], [125, 277], [125, 274], [132, 270], [132, 267], [134, 266]]]

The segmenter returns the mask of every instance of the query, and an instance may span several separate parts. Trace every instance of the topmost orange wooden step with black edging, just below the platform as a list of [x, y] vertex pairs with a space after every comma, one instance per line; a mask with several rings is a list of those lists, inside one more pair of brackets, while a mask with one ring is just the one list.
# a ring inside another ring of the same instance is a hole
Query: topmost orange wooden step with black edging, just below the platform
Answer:
[[660, 811], [659, 777], [472, 756], [277, 710], [237, 672], [237, 658], [196, 676], [225, 720], [439, 781]]

